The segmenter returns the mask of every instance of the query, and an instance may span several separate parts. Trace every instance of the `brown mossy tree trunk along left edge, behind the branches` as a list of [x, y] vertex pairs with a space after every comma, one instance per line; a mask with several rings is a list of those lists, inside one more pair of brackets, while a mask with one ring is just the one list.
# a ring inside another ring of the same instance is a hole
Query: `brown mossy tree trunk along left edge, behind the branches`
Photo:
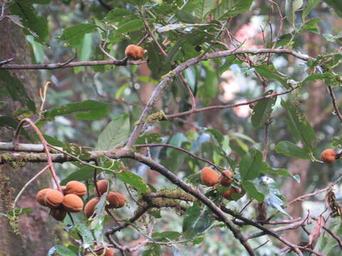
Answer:
[[[0, 25], [0, 56], [1, 60], [15, 58], [14, 63], [31, 63], [30, 49], [18, 26], [4, 18]], [[11, 73], [21, 81], [28, 94], [36, 93], [38, 76], [30, 70], [17, 70]], [[0, 86], [4, 86], [1, 85]], [[7, 98], [6, 98], [7, 100]], [[11, 115], [17, 110], [19, 102], [8, 100], [6, 106], [1, 109], [1, 114]], [[22, 108], [22, 107], [21, 107]], [[0, 129], [1, 141], [11, 142], [14, 131]], [[21, 142], [24, 140], [21, 138]], [[14, 163], [16, 164], [16, 163]], [[12, 165], [14, 166], [14, 165]], [[24, 184], [32, 178], [43, 166], [38, 164], [26, 164], [26, 166], [14, 169], [10, 164], [0, 165], [0, 212], [11, 210], [11, 205], [16, 194]], [[16, 208], [32, 208], [32, 213], [19, 216], [19, 222], [9, 221], [0, 215], [0, 256], [18, 255], [47, 255], [53, 246], [53, 225], [55, 221], [48, 217], [48, 210], [39, 206], [36, 202], [36, 193], [41, 188], [49, 186], [48, 174], [40, 176], [33, 181], [19, 198]]]

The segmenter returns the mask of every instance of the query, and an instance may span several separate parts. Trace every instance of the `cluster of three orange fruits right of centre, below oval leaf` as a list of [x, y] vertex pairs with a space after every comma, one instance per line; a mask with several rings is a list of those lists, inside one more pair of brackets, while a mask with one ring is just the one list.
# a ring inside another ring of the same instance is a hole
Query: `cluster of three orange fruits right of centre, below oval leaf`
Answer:
[[[225, 187], [231, 186], [231, 184], [233, 183], [233, 178], [232, 178], [234, 176], [233, 172], [226, 170], [226, 171], [223, 171], [223, 173], [225, 175], [219, 176], [219, 174], [217, 174], [217, 172], [214, 171], [213, 169], [209, 167], [204, 167], [201, 171], [201, 181], [205, 186], [214, 186], [217, 183], [220, 183], [222, 186], [225, 186]], [[241, 193], [242, 193], [241, 188], [234, 188], [231, 186], [229, 190], [224, 191], [222, 193], [222, 196], [226, 198], [227, 200], [232, 201], [233, 194], [241, 194]]]

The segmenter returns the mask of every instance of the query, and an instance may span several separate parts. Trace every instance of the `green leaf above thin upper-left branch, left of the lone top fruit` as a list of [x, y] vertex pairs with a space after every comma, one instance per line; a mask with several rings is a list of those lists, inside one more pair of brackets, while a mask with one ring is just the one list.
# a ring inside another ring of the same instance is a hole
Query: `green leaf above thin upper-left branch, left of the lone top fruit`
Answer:
[[95, 24], [77, 24], [63, 30], [62, 36], [58, 38], [61, 41], [68, 41], [71, 46], [76, 46], [83, 41], [86, 33], [93, 33], [96, 28]]

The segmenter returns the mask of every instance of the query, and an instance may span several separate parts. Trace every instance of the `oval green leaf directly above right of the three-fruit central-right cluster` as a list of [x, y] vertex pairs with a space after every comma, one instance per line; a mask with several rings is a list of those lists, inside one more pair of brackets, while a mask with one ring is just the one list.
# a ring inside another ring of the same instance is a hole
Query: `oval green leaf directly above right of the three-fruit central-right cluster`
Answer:
[[257, 149], [251, 148], [244, 155], [239, 164], [239, 173], [242, 180], [252, 180], [260, 174], [262, 154]]

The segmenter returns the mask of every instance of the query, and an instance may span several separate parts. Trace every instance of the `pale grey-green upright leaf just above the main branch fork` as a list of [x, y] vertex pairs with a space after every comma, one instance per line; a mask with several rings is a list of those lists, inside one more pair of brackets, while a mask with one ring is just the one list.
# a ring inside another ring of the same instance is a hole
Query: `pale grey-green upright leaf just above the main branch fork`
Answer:
[[123, 142], [130, 134], [130, 115], [122, 114], [113, 119], [98, 137], [96, 149], [109, 150]]

